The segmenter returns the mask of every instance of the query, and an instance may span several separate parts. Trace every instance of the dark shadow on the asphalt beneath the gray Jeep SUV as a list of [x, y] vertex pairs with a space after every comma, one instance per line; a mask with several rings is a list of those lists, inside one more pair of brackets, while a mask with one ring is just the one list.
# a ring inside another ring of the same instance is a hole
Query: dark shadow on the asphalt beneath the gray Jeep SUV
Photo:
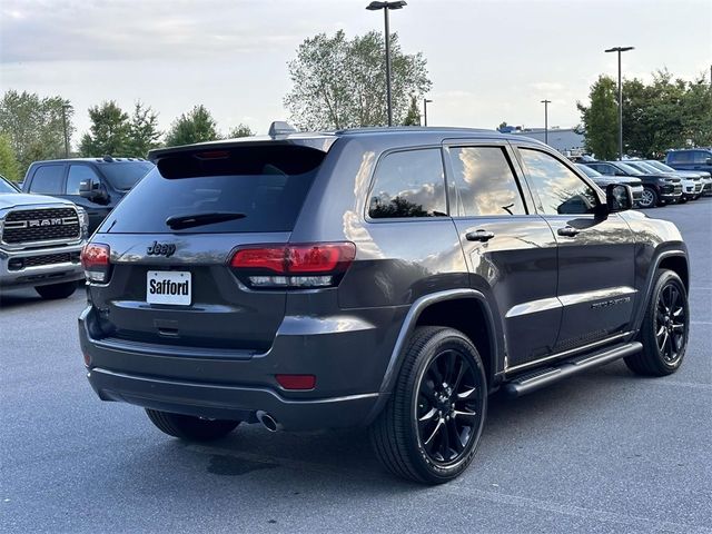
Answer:
[[[594, 369], [583, 375], [583, 379], [567, 380], [518, 399], [508, 398], [502, 393], [492, 395], [483, 443], [474, 465], [464, 473], [462, 479], [473, 476], [476, 481], [478, 463], [490, 463], [488, 457], [506, 456], [521, 448], [521, 443], [512, 439], [513, 429], [518, 436], [541, 436], [543, 428], [550, 426], [552, 421], [565, 417], [563, 412], [595, 411], [594, 399], [610, 394], [616, 387], [613, 384], [620, 385], [619, 380], [612, 380], [611, 386], [606, 387], [610, 374]], [[615, 369], [613, 375], [621, 380], [626, 377], [635, 379], [623, 366]], [[147, 432], [151, 431], [147, 427]], [[356, 493], [363, 487], [402, 492], [428, 490], [427, 486], [402, 481], [387, 473], [372, 451], [366, 429], [271, 434], [259, 425], [241, 425], [228, 437], [206, 444], [166, 437], [154, 453], [149, 455], [154, 458], [150, 467], [147, 467], [149, 471], [165, 468], [169, 472], [179, 464], [184, 466], [184, 473], [185, 469], [189, 471], [187, 476], [201, 479], [206, 475], [210, 478], [234, 477], [236, 481], [255, 477], [251, 484], [265, 484], [265, 487], [289, 479], [303, 490], [335, 484], [346, 493], [349, 487]], [[160, 465], [162, 463], [164, 466]]]

